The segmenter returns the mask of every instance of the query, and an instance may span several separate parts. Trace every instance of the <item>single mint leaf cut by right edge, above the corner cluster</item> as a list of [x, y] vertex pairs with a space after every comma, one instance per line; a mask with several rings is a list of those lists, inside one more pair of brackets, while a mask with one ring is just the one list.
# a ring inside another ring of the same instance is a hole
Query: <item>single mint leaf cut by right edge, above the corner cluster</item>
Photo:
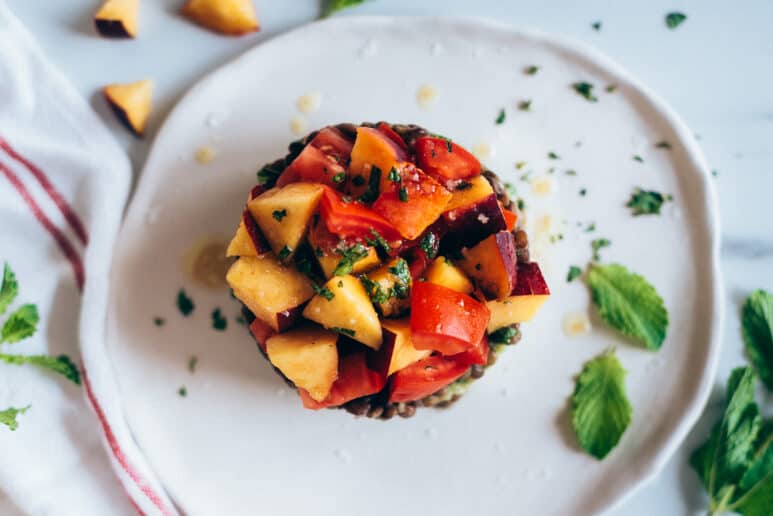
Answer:
[[773, 391], [773, 295], [755, 290], [741, 310], [746, 354], [762, 383]]

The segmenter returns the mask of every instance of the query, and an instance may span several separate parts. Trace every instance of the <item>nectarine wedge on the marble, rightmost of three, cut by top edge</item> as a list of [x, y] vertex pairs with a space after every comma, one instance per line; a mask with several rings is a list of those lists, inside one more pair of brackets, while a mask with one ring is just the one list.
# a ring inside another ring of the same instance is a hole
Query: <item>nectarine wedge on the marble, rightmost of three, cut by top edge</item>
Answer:
[[252, 0], [188, 0], [182, 13], [202, 27], [228, 36], [260, 28]]

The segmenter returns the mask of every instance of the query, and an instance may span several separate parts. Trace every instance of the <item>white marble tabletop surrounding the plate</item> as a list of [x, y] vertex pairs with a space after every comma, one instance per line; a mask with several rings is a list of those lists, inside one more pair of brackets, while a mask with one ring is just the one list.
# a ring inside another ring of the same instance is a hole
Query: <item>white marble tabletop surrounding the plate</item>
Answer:
[[[115, 128], [137, 167], [168, 110], [197, 78], [259, 41], [313, 19], [317, 0], [256, 0], [263, 31], [223, 38], [190, 25], [176, 14], [178, 0], [143, 4], [140, 38], [99, 39], [90, 15], [96, 0], [7, 0], [51, 59]], [[699, 514], [706, 500], [687, 466], [689, 452], [716, 419], [729, 371], [745, 362], [738, 309], [754, 288], [773, 290], [773, 217], [763, 206], [773, 192], [773, 3], [749, 0], [371, 0], [361, 14], [479, 15], [518, 27], [536, 27], [591, 43], [660, 93], [700, 135], [719, 172], [722, 265], [727, 324], [717, 388], [706, 413], [664, 471], [613, 514]], [[688, 15], [677, 30], [665, 13]], [[602, 21], [600, 31], [591, 23]], [[152, 77], [156, 110], [144, 141], [128, 136], [107, 111], [98, 89], [110, 82]], [[653, 386], [657, 388], [657, 386]], [[773, 397], [766, 405], [770, 409]], [[571, 486], [567, 486], [571, 489]]]

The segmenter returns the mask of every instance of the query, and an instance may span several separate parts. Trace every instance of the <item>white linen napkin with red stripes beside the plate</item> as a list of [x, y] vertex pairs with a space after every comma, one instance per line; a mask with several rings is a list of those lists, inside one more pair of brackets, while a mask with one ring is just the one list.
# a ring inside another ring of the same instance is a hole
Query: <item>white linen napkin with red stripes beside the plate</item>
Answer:
[[5, 315], [40, 312], [34, 337], [2, 351], [65, 353], [83, 372], [78, 387], [0, 363], [0, 410], [31, 405], [16, 431], [0, 425], [2, 514], [176, 514], [123, 419], [105, 349], [130, 181], [126, 154], [0, 0], [0, 268], [20, 286]]

